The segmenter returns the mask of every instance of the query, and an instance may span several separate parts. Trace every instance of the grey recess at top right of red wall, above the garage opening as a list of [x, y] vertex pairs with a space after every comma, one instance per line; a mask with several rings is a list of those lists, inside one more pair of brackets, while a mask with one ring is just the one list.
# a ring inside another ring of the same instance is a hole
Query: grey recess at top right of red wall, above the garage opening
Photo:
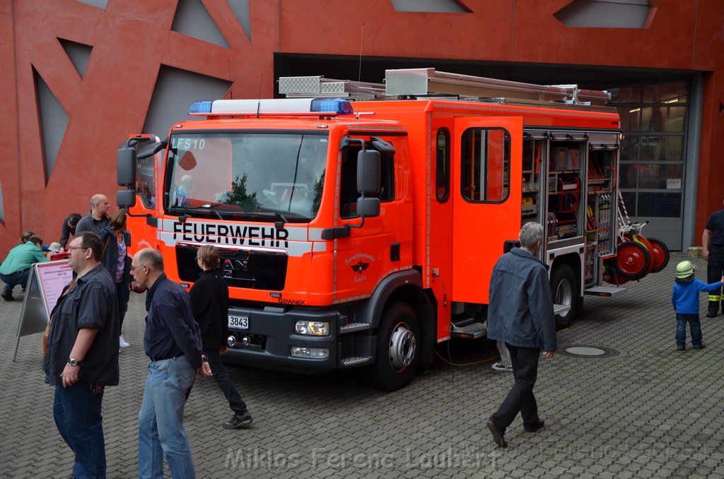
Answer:
[[567, 27], [641, 28], [649, 0], [573, 0], [554, 16]]

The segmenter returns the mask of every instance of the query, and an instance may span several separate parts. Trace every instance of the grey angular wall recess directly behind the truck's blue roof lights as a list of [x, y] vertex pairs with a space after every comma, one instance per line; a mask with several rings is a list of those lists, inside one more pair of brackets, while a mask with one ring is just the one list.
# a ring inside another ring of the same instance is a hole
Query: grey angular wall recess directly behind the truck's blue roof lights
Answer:
[[141, 133], [152, 133], [163, 140], [174, 123], [196, 118], [188, 115], [191, 103], [218, 100], [231, 85], [227, 80], [161, 65]]

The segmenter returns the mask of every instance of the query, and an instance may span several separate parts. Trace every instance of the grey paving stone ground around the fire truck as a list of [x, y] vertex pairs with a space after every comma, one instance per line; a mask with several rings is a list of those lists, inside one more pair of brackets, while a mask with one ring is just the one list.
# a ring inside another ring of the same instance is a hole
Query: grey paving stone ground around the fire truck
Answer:
[[[670, 290], [682, 259], [673, 254], [665, 271], [616, 297], [586, 297], [579, 319], [558, 334], [560, 351], [587, 345], [617, 354], [542, 360], [536, 397], [546, 426], [524, 433], [518, 418], [508, 449], [492, 444], [484, 423], [512, 376], [491, 370], [493, 344], [455, 342], [439, 353], [460, 366], [440, 360], [392, 393], [355, 375], [231, 368], [254, 418], [241, 431], [221, 427], [231, 412], [215, 384], [199, 379], [185, 417], [198, 477], [724, 477], [724, 317], [702, 314], [705, 349], [675, 351]], [[706, 263], [694, 263], [705, 280]], [[147, 362], [143, 296], [133, 296], [121, 385], [104, 398], [109, 478], [135, 477], [138, 467]], [[53, 422], [40, 334], [23, 336], [12, 362], [21, 306], [0, 303], [0, 476], [66, 478], [72, 454]]]

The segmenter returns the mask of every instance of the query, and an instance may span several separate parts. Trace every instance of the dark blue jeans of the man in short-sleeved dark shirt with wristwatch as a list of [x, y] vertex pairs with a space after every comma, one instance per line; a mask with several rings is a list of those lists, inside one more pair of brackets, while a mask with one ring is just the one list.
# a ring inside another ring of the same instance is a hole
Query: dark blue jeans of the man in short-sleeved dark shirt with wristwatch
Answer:
[[77, 479], [106, 477], [102, 402], [103, 393], [93, 392], [90, 384], [55, 386], [53, 417], [60, 436], [75, 454], [73, 474]]

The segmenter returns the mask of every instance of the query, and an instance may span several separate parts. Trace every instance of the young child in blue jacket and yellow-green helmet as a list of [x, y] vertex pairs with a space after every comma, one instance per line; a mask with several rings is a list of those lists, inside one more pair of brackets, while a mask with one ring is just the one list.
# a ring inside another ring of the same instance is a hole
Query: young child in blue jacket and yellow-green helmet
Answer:
[[686, 260], [676, 265], [676, 280], [671, 292], [671, 304], [676, 310], [676, 349], [686, 349], [686, 323], [691, 329], [691, 346], [702, 349], [702, 323], [699, 321], [699, 292], [715, 291], [722, 287], [724, 276], [720, 281], [706, 284], [694, 278], [694, 266]]

